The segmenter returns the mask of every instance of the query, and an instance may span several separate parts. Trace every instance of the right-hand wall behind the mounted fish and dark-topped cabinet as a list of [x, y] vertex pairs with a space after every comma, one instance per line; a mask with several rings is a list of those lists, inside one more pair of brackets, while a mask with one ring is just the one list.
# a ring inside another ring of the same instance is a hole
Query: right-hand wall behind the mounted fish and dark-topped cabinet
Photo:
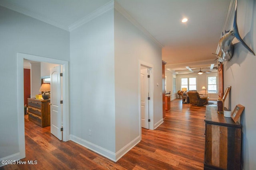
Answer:
[[[246, 44], [256, 52], [256, 1], [238, 0], [238, 30]], [[256, 167], [256, 114], [255, 96], [252, 90], [256, 84], [256, 57], [248, 52], [241, 43], [234, 45], [234, 55], [228, 62], [224, 62], [224, 89], [230, 90], [231, 110], [237, 104], [245, 109], [240, 116], [242, 124], [242, 166], [244, 170]]]

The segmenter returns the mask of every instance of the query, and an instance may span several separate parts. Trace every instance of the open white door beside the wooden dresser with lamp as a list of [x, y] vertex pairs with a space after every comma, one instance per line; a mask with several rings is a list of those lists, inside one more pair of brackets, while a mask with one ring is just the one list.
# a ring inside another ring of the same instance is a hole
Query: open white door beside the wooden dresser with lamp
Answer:
[[61, 65], [55, 66], [50, 69], [51, 78], [51, 133], [58, 139], [62, 140], [62, 100], [61, 93]]

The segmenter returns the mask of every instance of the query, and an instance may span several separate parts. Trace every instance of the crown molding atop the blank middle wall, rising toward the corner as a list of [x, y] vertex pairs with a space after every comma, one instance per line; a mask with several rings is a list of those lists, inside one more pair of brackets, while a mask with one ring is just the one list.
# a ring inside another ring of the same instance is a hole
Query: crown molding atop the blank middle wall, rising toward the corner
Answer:
[[76, 21], [75, 23], [69, 25], [68, 30], [72, 31], [73, 29], [76, 29], [77, 27], [93, 20], [94, 18], [96, 18], [96, 17], [98, 17], [98, 16], [100, 16], [100, 15], [104, 14], [105, 12], [108, 12], [109, 10], [112, 10], [112, 9], [114, 9], [114, 0], [108, 2], [107, 4], [98, 8], [94, 12], [88, 14], [84, 18], [82, 18], [82, 19]]

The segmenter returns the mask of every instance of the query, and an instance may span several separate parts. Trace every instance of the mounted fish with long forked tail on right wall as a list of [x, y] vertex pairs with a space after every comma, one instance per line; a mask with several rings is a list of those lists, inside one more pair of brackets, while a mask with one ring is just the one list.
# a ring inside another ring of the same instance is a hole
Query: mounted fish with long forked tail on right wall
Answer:
[[235, 4], [235, 14], [234, 14], [234, 23], [233, 23], [233, 29], [230, 31], [225, 30], [225, 34], [222, 32], [222, 37], [219, 40], [219, 47], [220, 52], [218, 54], [212, 53], [213, 55], [216, 55], [218, 58], [218, 61], [222, 63], [223, 61], [229, 61], [234, 53], [234, 46], [232, 44], [232, 40], [236, 37], [242, 45], [248, 49], [253, 55], [254, 52], [246, 45], [246, 43], [243, 41], [243, 39], [240, 37], [237, 27], [237, 21], [236, 21], [236, 13], [237, 13], [237, 0]]

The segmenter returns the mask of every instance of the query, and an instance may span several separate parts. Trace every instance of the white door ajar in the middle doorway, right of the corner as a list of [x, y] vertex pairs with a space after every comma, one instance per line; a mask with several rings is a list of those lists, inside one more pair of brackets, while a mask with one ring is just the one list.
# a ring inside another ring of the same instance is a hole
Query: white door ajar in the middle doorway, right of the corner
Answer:
[[141, 66], [140, 70], [140, 109], [141, 127], [149, 129], [149, 78], [148, 68]]

